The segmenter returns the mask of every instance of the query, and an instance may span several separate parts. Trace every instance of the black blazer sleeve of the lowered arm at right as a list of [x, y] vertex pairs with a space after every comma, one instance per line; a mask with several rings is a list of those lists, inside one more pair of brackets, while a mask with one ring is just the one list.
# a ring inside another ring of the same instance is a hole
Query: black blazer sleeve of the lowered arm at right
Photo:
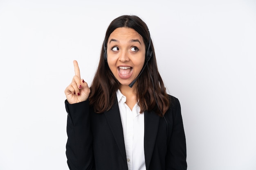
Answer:
[[186, 139], [182, 122], [180, 102], [171, 98], [171, 137], [167, 147], [166, 170], [186, 170]]

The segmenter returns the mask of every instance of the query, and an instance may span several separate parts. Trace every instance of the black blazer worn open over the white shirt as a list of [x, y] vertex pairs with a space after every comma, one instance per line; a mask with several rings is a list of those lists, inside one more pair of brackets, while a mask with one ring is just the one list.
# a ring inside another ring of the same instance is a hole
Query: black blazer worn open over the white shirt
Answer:
[[[147, 170], [186, 170], [186, 140], [180, 102], [170, 96], [165, 118], [144, 112]], [[67, 164], [70, 170], [128, 170], [117, 100], [104, 113], [94, 113], [88, 100], [70, 105], [67, 116]]]

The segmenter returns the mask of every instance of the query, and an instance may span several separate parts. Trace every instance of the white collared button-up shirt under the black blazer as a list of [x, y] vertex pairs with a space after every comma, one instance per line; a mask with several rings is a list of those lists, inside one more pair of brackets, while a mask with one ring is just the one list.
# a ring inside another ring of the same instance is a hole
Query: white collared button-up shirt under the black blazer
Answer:
[[144, 112], [136, 103], [132, 110], [126, 105], [126, 96], [117, 90], [117, 101], [124, 133], [128, 170], [146, 170], [144, 154]]

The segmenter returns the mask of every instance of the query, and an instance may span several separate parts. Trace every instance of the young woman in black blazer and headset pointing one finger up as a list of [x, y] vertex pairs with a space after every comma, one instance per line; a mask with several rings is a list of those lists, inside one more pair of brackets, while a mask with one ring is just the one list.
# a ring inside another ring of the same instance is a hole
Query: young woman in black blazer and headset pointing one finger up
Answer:
[[166, 94], [139, 17], [110, 23], [91, 87], [74, 68], [65, 89], [71, 170], [186, 170], [180, 103]]

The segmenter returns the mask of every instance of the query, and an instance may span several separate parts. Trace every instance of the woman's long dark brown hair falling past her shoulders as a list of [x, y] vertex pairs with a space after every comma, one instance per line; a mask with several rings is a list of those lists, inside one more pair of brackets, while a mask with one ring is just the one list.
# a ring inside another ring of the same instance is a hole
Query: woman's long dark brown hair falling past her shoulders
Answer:
[[[99, 65], [90, 87], [91, 93], [89, 101], [96, 113], [108, 111], [114, 105], [116, 92], [120, 87], [120, 83], [113, 76], [108, 63], [104, 60], [104, 48], [106, 47], [106, 42], [108, 42], [110, 34], [120, 27], [132, 28], [137, 31], [137, 33], [143, 37], [146, 52], [148, 50], [150, 42], [148, 27], [139, 17], [135, 15], [123, 15], [117, 17], [110, 23], [101, 48]], [[152, 51], [152, 57], [148, 61], [148, 66], [137, 79], [137, 101], [141, 113], [146, 110], [154, 110], [159, 116], [163, 116], [170, 106], [170, 100], [157, 69], [155, 50], [152, 41], [150, 50]], [[147, 56], [145, 57], [145, 60], [146, 58]], [[144, 64], [146, 64], [146, 62]]]

